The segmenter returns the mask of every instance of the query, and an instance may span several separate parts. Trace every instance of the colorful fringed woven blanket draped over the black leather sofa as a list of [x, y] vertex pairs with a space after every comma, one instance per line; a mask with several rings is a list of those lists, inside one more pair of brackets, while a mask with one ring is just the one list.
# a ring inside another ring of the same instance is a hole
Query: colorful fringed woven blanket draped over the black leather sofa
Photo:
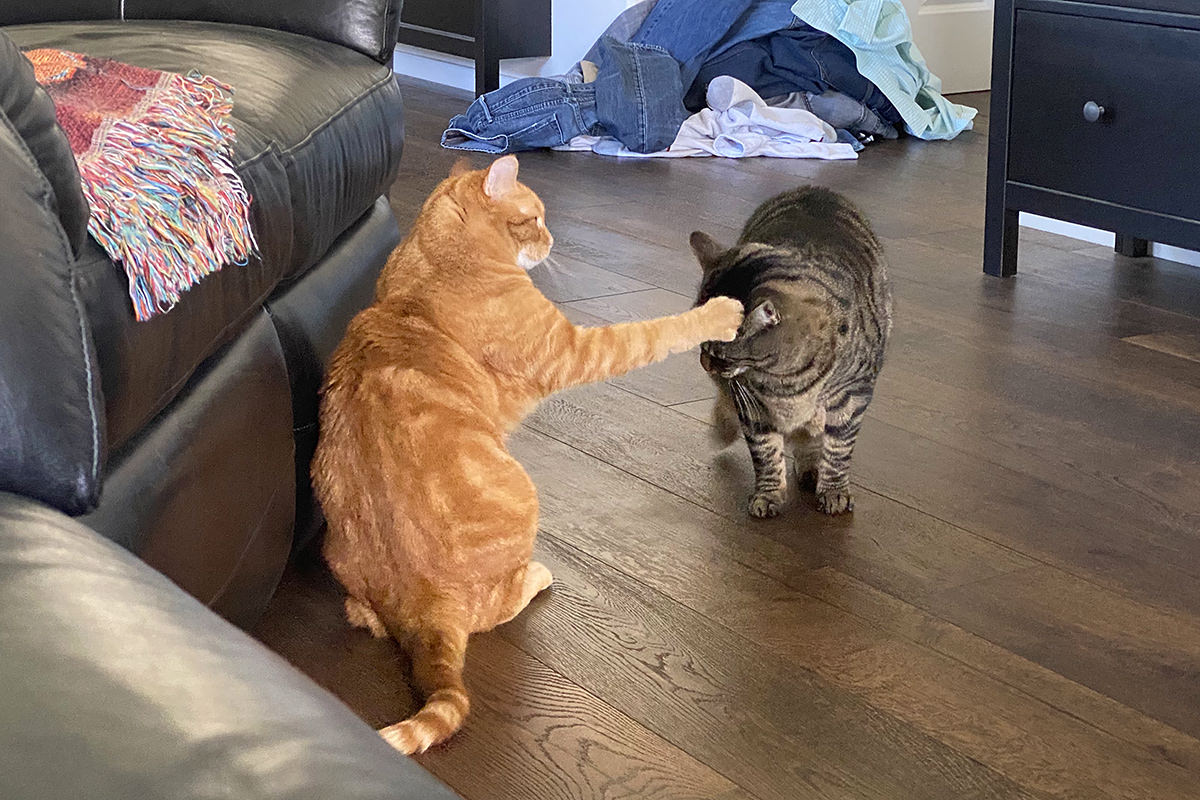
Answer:
[[67, 50], [25, 55], [79, 162], [88, 230], [124, 265], [139, 320], [246, 263], [254, 239], [232, 163], [228, 86]]

